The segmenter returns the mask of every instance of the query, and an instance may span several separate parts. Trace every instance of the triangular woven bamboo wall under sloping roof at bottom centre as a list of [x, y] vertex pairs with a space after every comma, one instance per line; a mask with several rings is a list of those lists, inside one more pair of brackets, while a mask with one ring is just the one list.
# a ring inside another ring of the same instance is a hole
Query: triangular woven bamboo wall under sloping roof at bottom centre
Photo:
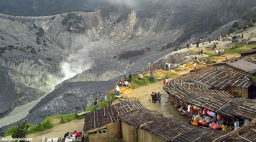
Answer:
[[162, 138], [142, 129], [138, 129], [138, 142], [166, 142]]

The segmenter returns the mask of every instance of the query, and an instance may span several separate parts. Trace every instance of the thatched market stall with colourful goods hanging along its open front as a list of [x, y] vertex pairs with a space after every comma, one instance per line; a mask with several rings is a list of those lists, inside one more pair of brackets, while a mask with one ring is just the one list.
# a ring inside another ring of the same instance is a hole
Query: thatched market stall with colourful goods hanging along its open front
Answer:
[[254, 99], [234, 98], [227, 91], [175, 80], [163, 88], [171, 95], [171, 104], [194, 126], [206, 126], [206, 115], [211, 118], [207, 126], [225, 131], [256, 119]]

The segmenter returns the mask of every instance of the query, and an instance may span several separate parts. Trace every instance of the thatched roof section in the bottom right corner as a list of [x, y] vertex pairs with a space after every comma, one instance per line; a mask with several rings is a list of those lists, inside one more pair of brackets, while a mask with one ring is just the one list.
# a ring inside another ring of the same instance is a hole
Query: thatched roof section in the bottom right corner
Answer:
[[244, 124], [238, 130], [228, 134], [220, 134], [213, 142], [256, 142], [256, 119]]

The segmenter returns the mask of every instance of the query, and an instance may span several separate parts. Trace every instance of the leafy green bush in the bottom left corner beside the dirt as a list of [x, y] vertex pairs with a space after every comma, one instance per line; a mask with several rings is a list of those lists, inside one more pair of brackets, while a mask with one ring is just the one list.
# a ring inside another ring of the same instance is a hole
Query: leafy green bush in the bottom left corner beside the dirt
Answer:
[[[17, 129], [14, 130], [12, 134], [12, 138], [25, 138], [28, 132], [28, 127], [29, 126], [27, 125], [26, 122], [22, 122], [22, 124], [18, 122]], [[20, 142], [24, 142], [24, 141], [20, 141]]]

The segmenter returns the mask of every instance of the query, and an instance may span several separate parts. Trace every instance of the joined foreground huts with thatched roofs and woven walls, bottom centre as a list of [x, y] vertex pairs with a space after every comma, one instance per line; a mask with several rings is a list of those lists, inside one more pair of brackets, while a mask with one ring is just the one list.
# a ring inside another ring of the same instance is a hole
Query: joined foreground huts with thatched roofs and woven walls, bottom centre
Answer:
[[164, 117], [132, 100], [86, 114], [84, 132], [90, 142], [109, 142], [120, 138], [126, 142], [204, 142], [221, 133]]

